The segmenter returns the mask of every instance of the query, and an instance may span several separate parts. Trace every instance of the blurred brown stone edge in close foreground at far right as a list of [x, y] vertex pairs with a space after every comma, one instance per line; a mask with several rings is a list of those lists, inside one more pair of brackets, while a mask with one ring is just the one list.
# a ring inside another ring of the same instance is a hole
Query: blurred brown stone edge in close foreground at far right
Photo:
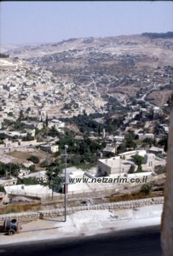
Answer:
[[162, 214], [161, 227], [161, 245], [164, 256], [173, 255], [173, 93], [171, 102], [167, 174], [164, 184], [164, 212]]

